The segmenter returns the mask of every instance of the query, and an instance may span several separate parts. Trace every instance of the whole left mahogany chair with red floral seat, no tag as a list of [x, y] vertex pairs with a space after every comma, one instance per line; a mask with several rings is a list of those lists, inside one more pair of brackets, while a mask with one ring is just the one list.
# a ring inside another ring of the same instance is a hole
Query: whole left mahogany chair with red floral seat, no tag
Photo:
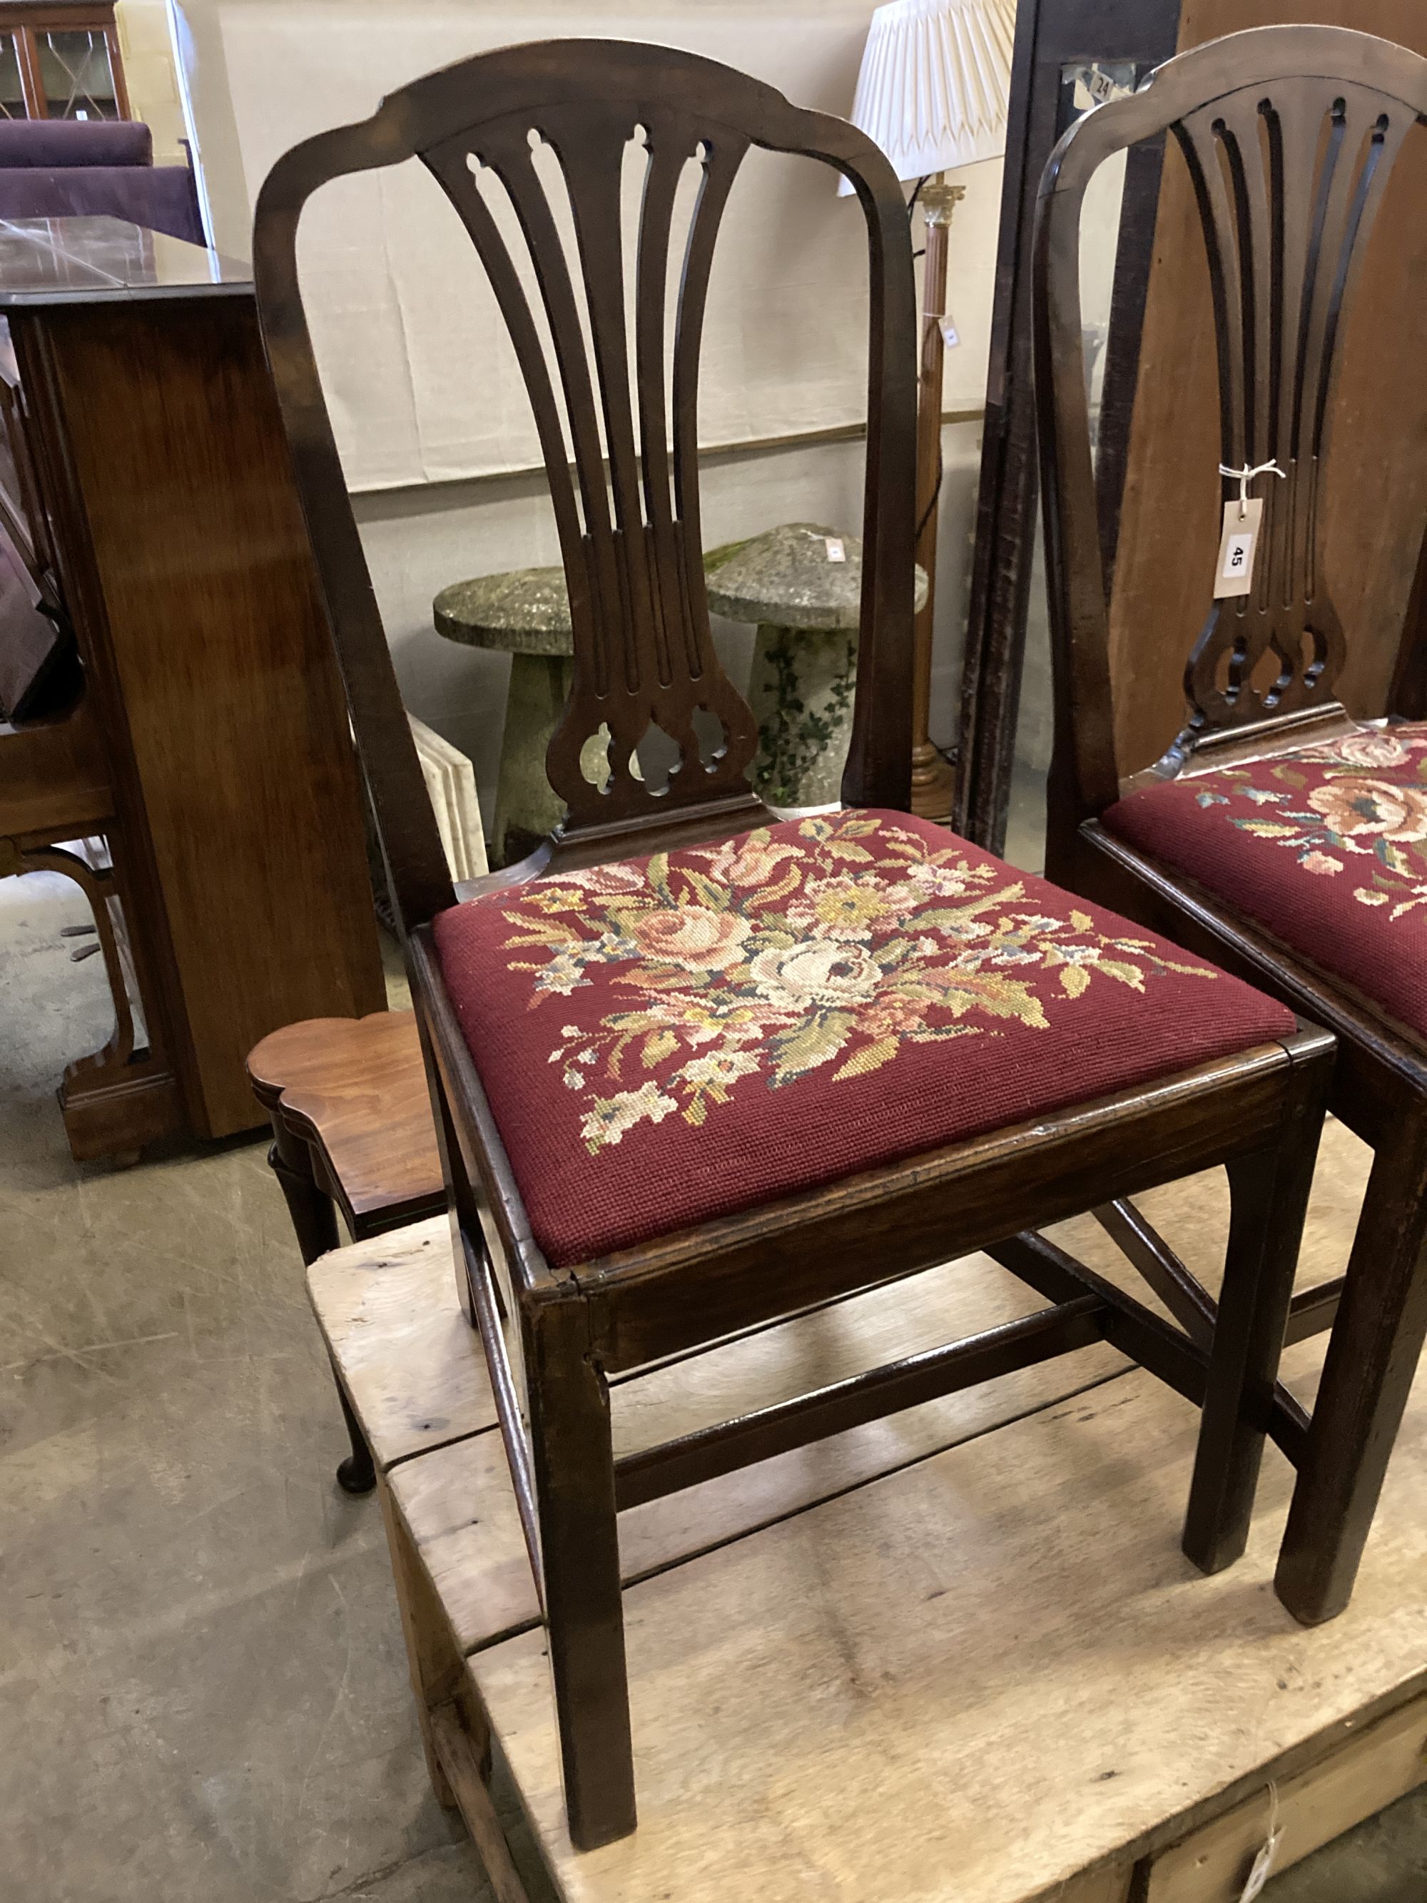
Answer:
[[[748, 786], [757, 733], [710, 639], [698, 521], [704, 297], [750, 147], [841, 171], [870, 266], [847, 809], [782, 824]], [[411, 156], [474, 242], [514, 341], [575, 626], [548, 752], [565, 822], [460, 904], [297, 272], [310, 194]], [[626, 270], [630, 166], [641, 202]], [[685, 177], [696, 196], [677, 240]], [[906, 204], [877, 147], [691, 53], [508, 48], [289, 152], [259, 200], [255, 280], [400, 915], [462, 1300], [542, 1595], [573, 1840], [635, 1823], [624, 1507], [1109, 1338], [1202, 1404], [1183, 1543], [1204, 1570], [1229, 1564], [1271, 1418], [1332, 1041], [908, 814], [917, 352]], [[655, 725], [679, 750], [662, 780], [632, 771]], [[607, 778], [582, 767], [596, 735]], [[613, 1454], [620, 1370], [1216, 1163], [1233, 1220], [1208, 1345], [1031, 1252], [1022, 1273], [1050, 1305], [1024, 1321]]]

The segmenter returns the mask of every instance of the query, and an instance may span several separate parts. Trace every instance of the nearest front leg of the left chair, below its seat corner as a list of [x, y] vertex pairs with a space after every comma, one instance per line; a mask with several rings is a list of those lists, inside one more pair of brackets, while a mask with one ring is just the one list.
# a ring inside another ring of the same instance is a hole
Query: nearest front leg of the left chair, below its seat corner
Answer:
[[584, 1300], [538, 1304], [525, 1344], [565, 1810], [575, 1848], [594, 1850], [635, 1825], [609, 1387]]

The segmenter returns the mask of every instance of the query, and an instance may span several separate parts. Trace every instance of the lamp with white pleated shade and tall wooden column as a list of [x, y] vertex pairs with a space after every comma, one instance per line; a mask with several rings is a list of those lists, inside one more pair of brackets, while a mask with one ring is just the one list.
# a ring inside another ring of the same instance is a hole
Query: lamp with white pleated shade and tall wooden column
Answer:
[[[917, 384], [917, 561], [927, 605], [915, 620], [911, 811], [949, 818], [953, 773], [929, 735], [936, 500], [942, 487], [942, 365], [955, 331], [946, 314], [951, 211], [967, 196], [946, 173], [1007, 150], [1016, 0], [890, 0], [871, 15], [852, 124], [887, 152], [898, 179], [917, 181], [927, 225], [921, 373]], [[849, 192], [847, 181], [841, 190]]]

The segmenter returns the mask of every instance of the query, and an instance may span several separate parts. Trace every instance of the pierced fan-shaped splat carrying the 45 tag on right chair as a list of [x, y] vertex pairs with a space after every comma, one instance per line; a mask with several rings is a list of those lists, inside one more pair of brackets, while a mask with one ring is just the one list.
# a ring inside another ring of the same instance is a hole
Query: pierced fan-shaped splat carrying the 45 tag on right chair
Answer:
[[[1414, 122], [1376, 88], [1315, 78], [1237, 91], [1172, 128], [1210, 257], [1223, 466], [1273, 464], [1256, 485], [1252, 594], [1216, 603], [1189, 658], [1195, 725], [1239, 727], [1334, 695], [1343, 630], [1319, 506], [1332, 392], [1368, 232]], [[1237, 493], [1225, 478], [1225, 499]]]

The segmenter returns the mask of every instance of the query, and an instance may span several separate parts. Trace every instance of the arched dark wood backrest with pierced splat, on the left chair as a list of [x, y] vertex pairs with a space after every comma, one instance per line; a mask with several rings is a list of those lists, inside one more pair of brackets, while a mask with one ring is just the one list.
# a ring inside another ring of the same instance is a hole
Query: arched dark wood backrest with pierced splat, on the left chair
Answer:
[[[750, 145], [835, 166], [854, 183], [868, 223], [870, 556], [849, 797], [900, 805], [906, 719], [892, 702], [909, 683], [911, 266], [900, 186], [862, 133], [689, 53], [548, 42], [487, 53], [403, 88], [363, 126], [297, 147], [263, 186], [259, 312], [388, 870], [403, 889], [398, 910], [409, 925], [449, 896], [413, 813], [419, 788], [405, 771], [384, 639], [365, 567], [354, 565], [360, 544], [297, 284], [303, 204], [327, 179], [415, 154], [485, 266], [531, 398], [569, 584], [573, 689], [546, 755], [550, 784], [569, 807], [563, 835], [597, 830], [599, 839], [630, 839], [651, 820], [712, 803], [744, 805], [752, 824], [759, 807], [746, 769], [757, 729], [710, 639], [696, 443], [710, 266]], [[641, 173], [639, 211], [626, 261], [632, 164]], [[689, 173], [696, 185], [681, 223], [675, 207], [687, 204]], [[677, 746], [664, 784], [637, 773], [635, 748], [651, 727]], [[609, 775], [592, 773], [594, 736], [607, 736]], [[611, 843], [611, 853], [622, 849], [632, 847]]]

